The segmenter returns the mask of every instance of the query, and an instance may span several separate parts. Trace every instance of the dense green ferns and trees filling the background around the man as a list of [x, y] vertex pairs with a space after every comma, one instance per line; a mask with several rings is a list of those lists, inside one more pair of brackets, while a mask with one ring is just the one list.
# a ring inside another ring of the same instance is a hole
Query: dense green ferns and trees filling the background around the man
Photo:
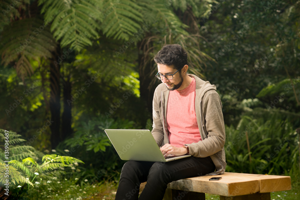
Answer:
[[292, 176], [292, 191], [274, 199], [295, 198], [300, 1], [0, 0], [0, 8], [0, 174], [8, 131], [10, 199], [115, 190], [124, 161], [104, 129], [152, 128], [153, 56], [170, 43], [217, 86], [226, 171]]

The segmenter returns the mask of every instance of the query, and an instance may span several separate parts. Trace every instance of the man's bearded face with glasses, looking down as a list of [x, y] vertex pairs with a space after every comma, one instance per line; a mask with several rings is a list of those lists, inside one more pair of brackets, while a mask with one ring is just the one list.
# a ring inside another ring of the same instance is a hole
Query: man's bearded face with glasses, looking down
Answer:
[[[161, 75], [174, 74], [177, 71], [175, 68], [173, 68], [173, 65], [167, 66], [164, 64], [157, 64], [157, 68], [158, 73], [160, 73]], [[161, 82], [163, 82], [167, 86], [168, 90], [177, 90], [183, 82], [181, 70], [173, 75], [173, 79], [167, 79], [166, 77], [163, 77], [163, 79], [161, 79]]]

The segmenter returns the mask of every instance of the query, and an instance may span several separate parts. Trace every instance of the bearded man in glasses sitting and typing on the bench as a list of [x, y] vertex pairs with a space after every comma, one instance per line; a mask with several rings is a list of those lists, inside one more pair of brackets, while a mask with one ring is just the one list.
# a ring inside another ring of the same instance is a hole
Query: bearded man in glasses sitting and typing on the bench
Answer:
[[[153, 97], [152, 135], [165, 157], [191, 156], [167, 163], [128, 161], [122, 168], [117, 200], [163, 199], [172, 181], [225, 171], [225, 128], [216, 87], [187, 74], [187, 52], [180, 45], [165, 45], [154, 60], [162, 83]], [[140, 183], [145, 181], [138, 198]]]

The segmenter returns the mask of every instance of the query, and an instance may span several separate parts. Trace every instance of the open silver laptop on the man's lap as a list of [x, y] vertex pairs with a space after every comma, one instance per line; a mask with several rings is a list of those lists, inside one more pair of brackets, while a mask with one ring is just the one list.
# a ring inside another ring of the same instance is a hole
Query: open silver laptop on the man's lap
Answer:
[[105, 129], [122, 160], [168, 162], [190, 155], [165, 158], [149, 130]]

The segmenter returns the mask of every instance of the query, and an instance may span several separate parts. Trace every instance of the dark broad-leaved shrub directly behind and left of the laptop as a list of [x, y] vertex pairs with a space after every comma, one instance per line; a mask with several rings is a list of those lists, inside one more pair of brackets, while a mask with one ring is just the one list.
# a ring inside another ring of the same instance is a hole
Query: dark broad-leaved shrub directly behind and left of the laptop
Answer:
[[81, 184], [84, 183], [85, 179], [92, 180], [92, 182], [101, 182], [104, 179], [117, 181], [125, 161], [120, 160], [104, 129], [137, 128], [133, 121], [114, 120], [106, 116], [94, 117], [87, 123], [82, 122], [76, 127], [73, 136], [66, 139], [56, 150], [61, 154], [72, 155], [87, 163], [82, 168], [79, 167], [76, 172], [68, 172], [73, 179], [79, 178]]

